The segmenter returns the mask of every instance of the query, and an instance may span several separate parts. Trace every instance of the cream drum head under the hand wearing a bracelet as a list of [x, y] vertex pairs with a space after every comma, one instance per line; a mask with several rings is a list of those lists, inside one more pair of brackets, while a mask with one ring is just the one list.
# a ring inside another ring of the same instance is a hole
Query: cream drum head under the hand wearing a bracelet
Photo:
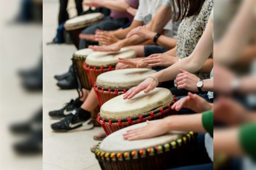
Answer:
[[106, 119], [137, 117], [173, 100], [173, 95], [167, 88], [154, 88], [148, 93], [142, 91], [132, 99], [126, 100], [123, 99], [123, 95], [116, 96], [105, 102], [100, 110], [101, 116]]

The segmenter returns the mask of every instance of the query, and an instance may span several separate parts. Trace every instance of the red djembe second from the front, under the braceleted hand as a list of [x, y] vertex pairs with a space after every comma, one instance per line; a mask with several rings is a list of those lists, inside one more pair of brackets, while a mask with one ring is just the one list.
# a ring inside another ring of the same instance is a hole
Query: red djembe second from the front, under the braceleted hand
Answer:
[[119, 95], [102, 105], [97, 120], [109, 135], [136, 123], [176, 114], [171, 109], [176, 100], [167, 88], [154, 88], [148, 93], [140, 92], [126, 100], [123, 95]]

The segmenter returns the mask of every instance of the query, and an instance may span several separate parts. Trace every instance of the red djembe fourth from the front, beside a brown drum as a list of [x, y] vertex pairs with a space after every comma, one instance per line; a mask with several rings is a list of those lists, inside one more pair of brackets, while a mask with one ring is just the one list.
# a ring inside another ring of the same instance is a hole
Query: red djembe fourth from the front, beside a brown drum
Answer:
[[98, 75], [115, 70], [118, 58], [136, 58], [137, 52], [128, 48], [121, 48], [117, 52], [94, 52], [87, 56], [84, 69], [91, 85], [94, 86]]

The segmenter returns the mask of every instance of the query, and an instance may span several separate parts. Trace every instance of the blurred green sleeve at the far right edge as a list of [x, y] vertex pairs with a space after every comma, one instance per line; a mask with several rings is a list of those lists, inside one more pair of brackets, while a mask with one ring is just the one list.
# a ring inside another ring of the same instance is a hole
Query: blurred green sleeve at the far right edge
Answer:
[[256, 123], [243, 125], [239, 130], [242, 150], [256, 161]]

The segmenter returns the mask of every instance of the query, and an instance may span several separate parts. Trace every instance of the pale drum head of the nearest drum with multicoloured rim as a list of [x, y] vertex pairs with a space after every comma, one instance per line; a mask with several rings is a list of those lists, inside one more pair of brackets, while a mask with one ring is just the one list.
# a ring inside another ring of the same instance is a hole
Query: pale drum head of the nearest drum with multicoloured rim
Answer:
[[[159, 121], [159, 120], [154, 120], [154, 121]], [[170, 143], [174, 140], [182, 138], [182, 136], [186, 134], [185, 132], [171, 131], [165, 135], [150, 138], [150, 139], [140, 139], [140, 140], [133, 140], [133, 141], [123, 139], [123, 134], [126, 133], [127, 130], [136, 129], [146, 125], [147, 125], [147, 122], [138, 123], [133, 126], [128, 126], [114, 133], [111, 133], [102, 141], [102, 143], [99, 146], [99, 149], [102, 152], [114, 152], [114, 153], [147, 149], [147, 148], [162, 145], [165, 143]]]

